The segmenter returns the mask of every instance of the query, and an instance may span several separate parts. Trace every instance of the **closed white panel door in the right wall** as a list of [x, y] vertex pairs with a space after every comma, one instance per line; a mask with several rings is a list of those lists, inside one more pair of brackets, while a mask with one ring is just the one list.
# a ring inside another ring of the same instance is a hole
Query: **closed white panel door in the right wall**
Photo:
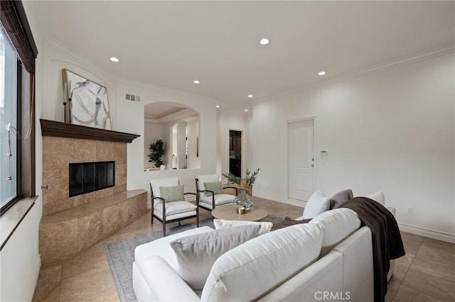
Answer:
[[289, 123], [289, 198], [308, 201], [314, 192], [314, 120]]

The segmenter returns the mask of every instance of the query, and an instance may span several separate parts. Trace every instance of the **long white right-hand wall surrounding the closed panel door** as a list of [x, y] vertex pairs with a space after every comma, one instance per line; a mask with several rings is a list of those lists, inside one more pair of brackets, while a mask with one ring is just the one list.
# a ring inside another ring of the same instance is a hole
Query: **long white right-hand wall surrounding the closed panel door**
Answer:
[[402, 228], [454, 239], [454, 82], [451, 53], [256, 104], [255, 194], [286, 202], [287, 123], [316, 117], [317, 188], [382, 190]]

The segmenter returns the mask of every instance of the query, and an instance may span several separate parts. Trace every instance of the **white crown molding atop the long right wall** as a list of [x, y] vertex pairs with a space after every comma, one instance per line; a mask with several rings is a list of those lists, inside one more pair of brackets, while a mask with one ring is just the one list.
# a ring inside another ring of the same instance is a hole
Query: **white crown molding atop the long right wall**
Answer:
[[392, 61], [385, 62], [385, 63], [379, 64], [379, 65], [374, 65], [374, 66], [371, 66], [371, 67], [367, 67], [365, 69], [360, 69], [357, 72], [346, 74], [346, 75], [343, 75], [341, 77], [336, 77], [335, 79], [326, 80], [326, 81], [321, 82], [319, 84], [301, 86], [301, 87], [297, 87], [295, 89], [289, 89], [287, 91], [277, 91], [277, 92], [274, 92], [273, 94], [269, 94], [267, 96], [263, 96], [262, 98], [255, 99], [255, 101], [253, 101], [253, 103], [254, 104], [259, 104], [259, 103], [262, 103], [264, 101], [269, 101], [270, 99], [272, 99], [274, 97], [277, 97], [277, 96], [281, 96], [283, 94], [291, 94], [291, 93], [297, 92], [297, 91], [315, 89], [315, 88], [319, 88], [319, 87], [335, 84], [335, 83], [338, 83], [338, 82], [345, 82], [345, 81], [348, 81], [350, 79], [355, 79], [355, 78], [358, 78], [358, 77], [365, 77], [365, 76], [367, 76], [369, 74], [375, 74], [377, 72], [382, 72], [382, 71], [385, 71], [385, 70], [388, 70], [388, 69], [393, 69], [393, 68], [396, 68], [396, 67], [410, 65], [410, 64], [415, 63], [415, 62], [420, 62], [420, 61], [424, 61], [424, 60], [431, 60], [431, 59], [433, 59], [435, 57], [440, 57], [442, 55], [449, 55], [450, 53], [454, 53], [454, 52], [455, 52], [455, 46], [454, 45], [441, 47], [441, 48], [439, 48], [437, 50], [432, 50], [432, 51], [429, 51], [429, 52], [420, 52], [420, 53], [417, 53], [417, 54], [414, 54], [414, 55], [411, 55], [411, 56], [408, 56], [408, 57], [401, 57], [401, 58], [399, 58], [397, 60], [392, 60]]

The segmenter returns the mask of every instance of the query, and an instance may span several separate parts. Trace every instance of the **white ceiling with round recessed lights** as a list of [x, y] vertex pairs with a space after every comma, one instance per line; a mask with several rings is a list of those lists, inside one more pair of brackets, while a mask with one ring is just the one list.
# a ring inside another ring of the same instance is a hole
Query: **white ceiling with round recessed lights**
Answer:
[[[45, 12], [45, 38], [116, 77], [208, 96], [226, 108], [246, 106], [247, 94], [262, 98], [454, 47], [454, 4], [33, 1], [27, 9]], [[263, 37], [269, 45], [259, 45]]]

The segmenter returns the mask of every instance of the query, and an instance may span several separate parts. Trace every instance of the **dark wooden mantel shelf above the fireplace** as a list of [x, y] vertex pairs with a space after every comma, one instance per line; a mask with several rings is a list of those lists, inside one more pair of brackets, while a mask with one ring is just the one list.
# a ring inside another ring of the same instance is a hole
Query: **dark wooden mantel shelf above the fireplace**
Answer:
[[41, 135], [108, 142], [132, 142], [141, 135], [40, 119]]

